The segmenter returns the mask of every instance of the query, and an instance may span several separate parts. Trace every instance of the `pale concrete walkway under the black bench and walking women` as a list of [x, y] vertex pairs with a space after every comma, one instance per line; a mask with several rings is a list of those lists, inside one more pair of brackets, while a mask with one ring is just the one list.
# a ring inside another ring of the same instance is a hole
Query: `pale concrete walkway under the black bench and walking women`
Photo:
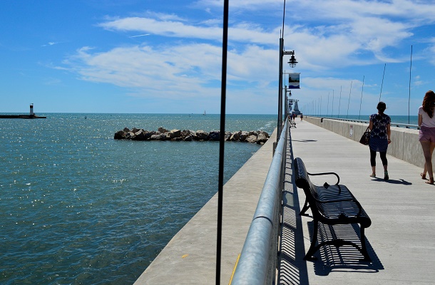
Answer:
[[[421, 169], [387, 156], [390, 179], [384, 181], [378, 154], [378, 177], [369, 177], [367, 146], [305, 121], [297, 119], [296, 123], [297, 128], [290, 132], [292, 157], [287, 160], [301, 157], [312, 173], [337, 172], [340, 184], [347, 185], [372, 219], [372, 226], [366, 229], [372, 263], [359, 262], [362, 256], [352, 247], [324, 247], [314, 254], [319, 260], [302, 260], [311, 240], [312, 219], [298, 215], [305, 194], [292, 184], [290, 163], [279, 283], [435, 284], [435, 186], [421, 180]], [[334, 177], [310, 178], [317, 185], [335, 183]], [[339, 231], [355, 238], [349, 227]]]

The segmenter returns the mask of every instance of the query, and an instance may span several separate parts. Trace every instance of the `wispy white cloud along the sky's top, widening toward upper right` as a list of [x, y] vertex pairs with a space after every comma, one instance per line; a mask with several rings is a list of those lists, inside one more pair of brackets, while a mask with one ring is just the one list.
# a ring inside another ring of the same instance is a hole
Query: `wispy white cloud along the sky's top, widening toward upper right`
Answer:
[[[237, 1], [237, 4], [233, 5], [238, 9], [247, 6], [250, 9], [265, 9], [267, 4], [281, 2]], [[198, 4], [222, 5], [222, 1], [198, 1]], [[282, 7], [275, 7], [275, 9], [280, 10]], [[376, 62], [401, 62], [406, 60], [406, 57], [390, 53], [387, 49], [395, 48], [404, 40], [411, 38], [414, 35], [411, 28], [433, 21], [431, 16], [429, 18], [428, 10], [435, 11], [435, 6], [406, 0], [390, 3], [349, 0], [287, 1], [287, 23], [292, 22], [293, 19], [295, 23], [300, 23], [301, 16], [298, 14], [307, 16], [303, 19], [303, 24], [291, 26], [286, 24], [286, 48], [297, 51], [302, 68], [319, 71], [327, 70], [332, 66], [337, 68]], [[292, 11], [298, 13], [292, 14]], [[215, 41], [215, 44], [221, 41], [222, 29], [216, 19], [202, 21], [202, 24], [193, 24], [187, 20], [165, 20], [178, 18], [175, 15], [170, 16], [156, 16], [155, 18], [158, 19], [141, 17], [111, 19], [101, 23], [100, 26], [109, 30], [139, 31], [191, 41], [210, 40]], [[419, 18], [416, 20], [412, 16]], [[277, 48], [281, 28], [279, 21], [274, 27], [248, 22], [232, 24], [228, 32], [230, 46], [256, 43], [268, 48]]]

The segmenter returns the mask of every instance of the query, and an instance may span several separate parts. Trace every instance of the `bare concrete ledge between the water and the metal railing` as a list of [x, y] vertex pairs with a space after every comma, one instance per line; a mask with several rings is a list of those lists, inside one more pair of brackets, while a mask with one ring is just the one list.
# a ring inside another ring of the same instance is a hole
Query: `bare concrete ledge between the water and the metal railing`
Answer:
[[[223, 187], [221, 284], [229, 283], [242, 252], [276, 140], [275, 131]], [[218, 195], [215, 195], [170, 240], [135, 285], [215, 284], [217, 222]]]

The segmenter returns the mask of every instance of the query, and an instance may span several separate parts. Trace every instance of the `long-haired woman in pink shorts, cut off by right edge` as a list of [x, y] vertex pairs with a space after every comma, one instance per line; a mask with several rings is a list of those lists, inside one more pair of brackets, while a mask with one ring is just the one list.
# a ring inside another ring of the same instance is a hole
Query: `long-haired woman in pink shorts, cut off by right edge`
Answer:
[[435, 148], [435, 93], [429, 90], [424, 95], [423, 104], [419, 107], [419, 141], [424, 154], [424, 169], [421, 178], [426, 180], [429, 172], [428, 184], [434, 184], [434, 171], [432, 170], [432, 153]]

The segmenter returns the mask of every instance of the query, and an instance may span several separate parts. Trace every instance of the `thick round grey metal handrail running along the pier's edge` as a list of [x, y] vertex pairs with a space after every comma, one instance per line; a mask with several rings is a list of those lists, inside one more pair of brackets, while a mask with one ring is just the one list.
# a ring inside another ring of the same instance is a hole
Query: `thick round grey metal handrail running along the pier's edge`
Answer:
[[270, 164], [231, 284], [275, 284], [288, 119]]

